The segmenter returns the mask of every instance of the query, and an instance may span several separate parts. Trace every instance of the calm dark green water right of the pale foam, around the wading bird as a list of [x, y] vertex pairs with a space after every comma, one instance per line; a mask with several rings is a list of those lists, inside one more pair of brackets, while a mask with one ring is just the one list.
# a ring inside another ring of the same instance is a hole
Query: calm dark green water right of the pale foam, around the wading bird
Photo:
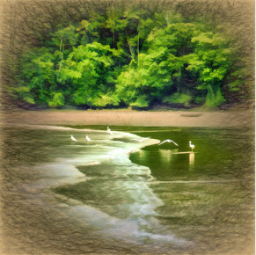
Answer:
[[[152, 131], [139, 134], [179, 144], [178, 148], [153, 145], [130, 157], [136, 164], [149, 166], [159, 181], [150, 187], [164, 201], [158, 208], [161, 222], [172, 225], [179, 237], [193, 236], [208, 247], [247, 237], [254, 191], [250, 132], [211, 128]], [[189, 150], [188, 141], [195, 144], [194, 155], [175, 154]]]

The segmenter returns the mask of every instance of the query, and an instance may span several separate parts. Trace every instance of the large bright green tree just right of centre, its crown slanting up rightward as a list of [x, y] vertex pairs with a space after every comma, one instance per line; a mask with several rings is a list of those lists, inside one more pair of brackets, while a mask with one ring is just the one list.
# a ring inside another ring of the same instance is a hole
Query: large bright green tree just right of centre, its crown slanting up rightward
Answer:
[[149, 106], [161, 103], [163, 95], [181, 92], [179, 77], [185, 64], [184, 47], [190, 47], [192, 28], [190, 24], [173, 22], [151, 31], [147, 36], [150, 47], [139, 55], [139, 65], [130, 65], [118, 78], [117, 91], [125, 102], [143, 102], [143, 106]]

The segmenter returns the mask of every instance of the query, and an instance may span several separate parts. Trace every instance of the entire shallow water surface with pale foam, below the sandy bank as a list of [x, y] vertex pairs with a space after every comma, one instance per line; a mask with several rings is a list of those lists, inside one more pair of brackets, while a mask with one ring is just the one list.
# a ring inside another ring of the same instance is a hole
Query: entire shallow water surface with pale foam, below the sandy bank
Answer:
[[[45, 128], [4, 130], [6, 251], [203, 254], [252, 245], [252, 130]], [[165, 139], [179, 146], [157, 146]]]

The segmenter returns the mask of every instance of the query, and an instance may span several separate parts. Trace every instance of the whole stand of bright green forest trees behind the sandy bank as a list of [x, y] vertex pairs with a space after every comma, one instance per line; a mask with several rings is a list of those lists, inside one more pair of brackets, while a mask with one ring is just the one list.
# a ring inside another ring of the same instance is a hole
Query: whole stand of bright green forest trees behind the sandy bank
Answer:
[[241, 47], [226, 24], [172, 8], [106, 5], [23, 47], [12, 91], [48, 107], [215, 108], [246, 90]]

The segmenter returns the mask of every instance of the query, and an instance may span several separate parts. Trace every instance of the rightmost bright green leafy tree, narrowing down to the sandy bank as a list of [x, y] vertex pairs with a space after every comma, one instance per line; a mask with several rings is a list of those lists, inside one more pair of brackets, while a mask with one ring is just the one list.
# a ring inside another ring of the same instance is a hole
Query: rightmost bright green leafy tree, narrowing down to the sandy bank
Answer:
[[187, 56], [187, 69], [198, 76], [198, 90], [207, 91], [206, 106], [220, 106], [223, 80], [231, 68], [233, 49], [220, 33], [199, 32], [192, 38], [194, 54]]

